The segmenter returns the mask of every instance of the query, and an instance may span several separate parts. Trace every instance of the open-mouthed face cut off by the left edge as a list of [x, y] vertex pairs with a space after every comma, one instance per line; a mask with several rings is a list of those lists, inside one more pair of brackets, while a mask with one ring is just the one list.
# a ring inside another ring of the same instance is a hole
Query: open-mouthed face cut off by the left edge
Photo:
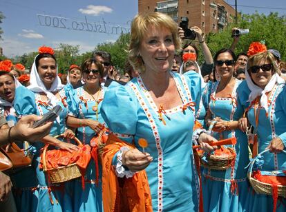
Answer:
[[15, 98], [15, 81], [8, 74], [0, 76], [0, 97], [9, 103]]

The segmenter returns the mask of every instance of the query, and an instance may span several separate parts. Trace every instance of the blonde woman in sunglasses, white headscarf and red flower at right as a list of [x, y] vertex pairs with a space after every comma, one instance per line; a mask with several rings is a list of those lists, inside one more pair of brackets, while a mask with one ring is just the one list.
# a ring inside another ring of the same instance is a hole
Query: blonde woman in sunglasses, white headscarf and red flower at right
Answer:
[[[248, 53], [252, 56], [247, 63], [246, 81], [241, 83], [238, 91], [242, 105], [247, 109], [245, 118], [241, 118], [238, 125], [246, 131], [248, 120], [254, 127], [251, 143], [253, 158], [269, 149], [263, 153], [263, 158], [256, 158], [260, 170], [251, 173], [251, 176], [261, 182], [269, 177], [276, 178], [285, 187], [286, 153], [282, 152], [286, 145], [285, 81], [280, 78], [274, 56], [266, 51], [265, 45], [251, 44], [254, 45], [262, 46], [256, 49], [263, 52], [251, 52], [249, 48]], [[268, 195], [254, 191], [247, 211], [286, 211], [285, 193], [284, 197], [278, 196], [275, 186], [277, 184], [272, 184], [272, 192]]]

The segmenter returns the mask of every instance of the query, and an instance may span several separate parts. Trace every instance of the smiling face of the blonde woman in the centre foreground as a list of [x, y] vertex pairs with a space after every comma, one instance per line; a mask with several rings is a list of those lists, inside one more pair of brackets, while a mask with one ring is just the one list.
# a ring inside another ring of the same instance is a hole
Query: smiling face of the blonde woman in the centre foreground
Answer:
[[166, 72], [173, 64], [175, 45], [171, 30], [149, 25], [140, 43], [140, 55], [146, 72]]

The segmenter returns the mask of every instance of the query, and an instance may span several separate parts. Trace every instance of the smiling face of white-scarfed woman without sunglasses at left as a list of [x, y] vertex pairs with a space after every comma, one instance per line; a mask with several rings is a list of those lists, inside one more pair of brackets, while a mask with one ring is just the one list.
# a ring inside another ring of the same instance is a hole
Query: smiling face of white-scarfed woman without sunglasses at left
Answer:
[[57, 76], [57, 64], [53, 58], [44, 57], [39, 59], [39, 66], [37, 67], [39, 78], [44, 83], [46, 88], [50, 88]]

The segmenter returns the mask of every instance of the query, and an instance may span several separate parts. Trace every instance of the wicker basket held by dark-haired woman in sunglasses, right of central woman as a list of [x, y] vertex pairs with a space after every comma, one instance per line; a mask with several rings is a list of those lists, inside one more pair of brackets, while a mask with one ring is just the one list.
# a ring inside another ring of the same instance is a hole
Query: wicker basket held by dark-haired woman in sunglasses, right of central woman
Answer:
[[229, 169], [231, 167], [231, 165], [233, 165], [233, 163], [236, 160], [236, 151], [234, 151], [234, 149], [231, 147], [227, 147], [227, 149], [229, 149], [229, 151], [231, 152], [231, 154], [229, 155], [228, 158], [222, 158], [220, 156], [208, 154], [207, 155], [207, 162], [202, 160], [204, 153], [202, 153], [201, 151], [197, 151], [198, 156], [200, 158], [200, 165], [202, 165], [202, 167], [205, 167], [207, 169], [215, 169], [215, 170]]

